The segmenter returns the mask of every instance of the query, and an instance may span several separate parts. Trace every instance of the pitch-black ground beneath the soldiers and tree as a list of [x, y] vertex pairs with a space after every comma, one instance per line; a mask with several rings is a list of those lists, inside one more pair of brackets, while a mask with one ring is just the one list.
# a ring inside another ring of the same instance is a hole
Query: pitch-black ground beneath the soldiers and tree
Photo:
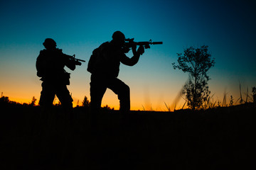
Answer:
[[0, 103], [0, 169], [255, 169], [252, 104], [171, 113]]

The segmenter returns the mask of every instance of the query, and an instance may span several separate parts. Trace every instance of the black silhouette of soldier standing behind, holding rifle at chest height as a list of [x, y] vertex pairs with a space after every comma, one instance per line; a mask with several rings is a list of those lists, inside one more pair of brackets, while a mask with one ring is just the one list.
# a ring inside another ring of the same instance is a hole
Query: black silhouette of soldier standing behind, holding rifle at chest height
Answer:
[[62, 50], [56, 48], [56, 42], [51, 38], [46, 38], [43, 46], [46, 49], [41, 50], [36, 59], [37, 76], [43, 81], [39, 105], [52, 106], [56, 95], [64, 108], [73, 108], [73, 99], [67, 89], [67, 85], [70, 84], [70, 73], [66, 72], [64, 67], [75, 70], [75, 65], [80, 62], [63, 54]]

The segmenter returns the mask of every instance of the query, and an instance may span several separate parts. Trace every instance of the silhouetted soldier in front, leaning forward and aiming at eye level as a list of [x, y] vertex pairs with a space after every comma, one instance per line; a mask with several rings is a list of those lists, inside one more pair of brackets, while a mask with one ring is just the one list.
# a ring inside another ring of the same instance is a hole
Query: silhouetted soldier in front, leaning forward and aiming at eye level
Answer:
[[[105, 91], [111, 89], [117, 94], [122, 113], [129, 113], [130, 110], [130, 90], [127, 84], [117, 79], [119, 65], [133, 66], [139, 61], [139, 56], [144, 53], [144, 47], [133, 45], [133, 57], [129, 58], [124, 54], [125, 36], [122, 32], [116, 31], [112, 35], [110, 42], [104, 42], [100, 47], [92, 52], [88, 62], [87, 71], [90, 72], [90, 97], [92, 112], [97, 112], [102, 103]], [[94, 116], [94, 115], [92, 115]]]

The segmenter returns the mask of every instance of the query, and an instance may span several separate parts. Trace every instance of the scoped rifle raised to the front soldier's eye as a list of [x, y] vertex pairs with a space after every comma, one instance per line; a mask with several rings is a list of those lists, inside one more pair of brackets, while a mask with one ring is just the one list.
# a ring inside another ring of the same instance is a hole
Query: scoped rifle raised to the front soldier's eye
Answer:
[[162, 41], [152, 42], [151, 39], [149, 41], [134, 42], [134, 38], [127, 38], [125, 39], [125, 43], [124, 43], [124, 52], [125, 53], [129, 52], [129, 50], [131, 50], [133, 45], [143, 45], [145, 49], [148, 49], [150, 48], [149, 45], [159, 45], [159, 44], [163, 44], [163, 42]]

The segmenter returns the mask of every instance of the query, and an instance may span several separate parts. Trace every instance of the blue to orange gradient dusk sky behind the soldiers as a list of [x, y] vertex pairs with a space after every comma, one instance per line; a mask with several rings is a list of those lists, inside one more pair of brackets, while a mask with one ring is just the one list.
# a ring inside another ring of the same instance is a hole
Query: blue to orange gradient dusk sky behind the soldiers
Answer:
[[[166, 111], [173, 107], [188, 74], [174, 70], [176, 53], [193, 45], [208, 45], [215, 67], [209, 70], [211, 94], [235, 101], [256, 86], [256, 2], [241, 1], [0, 1], [0, 92], [13, 101], [40, 97], [36, 57], [43, 41], [53, 38], [68, 55], [86, 60], [71, 73], [74, 104], [90, 98], [92, 50], [111, 40], [115, 30], [136, 41], [163, 41], [146, 50], [137, 65], [121, 65], [119, 79], [131, 89], [132, 110]], [[132, 52], [127, 56], [132, 57]], [[228, 101], [227, 101], [228, 102]], [[181, 98], [177, 105], [181, 107]], [[117, 96], [107, 90], [102, 106], [119, 108]], [[143, 107], [142, 107], [143, 106]]]

